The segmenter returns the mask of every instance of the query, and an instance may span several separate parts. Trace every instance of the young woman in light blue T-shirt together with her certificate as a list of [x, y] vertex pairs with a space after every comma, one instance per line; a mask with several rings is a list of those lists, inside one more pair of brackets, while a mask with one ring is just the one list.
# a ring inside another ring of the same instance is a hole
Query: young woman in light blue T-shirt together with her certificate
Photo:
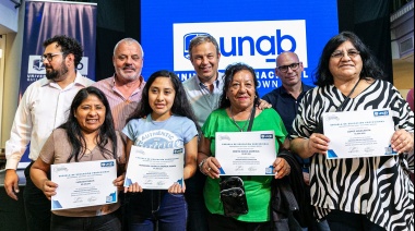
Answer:
[[[129, 195], [129, 230], [186, 230], [183, 180], [197, 170], [198, 129], [175, 73], [157, 71], [150, 76], [122, 132], [129, 159], [124, 192], [133, 193]], [[169, 179], [177, 172], [181, 175]]]

